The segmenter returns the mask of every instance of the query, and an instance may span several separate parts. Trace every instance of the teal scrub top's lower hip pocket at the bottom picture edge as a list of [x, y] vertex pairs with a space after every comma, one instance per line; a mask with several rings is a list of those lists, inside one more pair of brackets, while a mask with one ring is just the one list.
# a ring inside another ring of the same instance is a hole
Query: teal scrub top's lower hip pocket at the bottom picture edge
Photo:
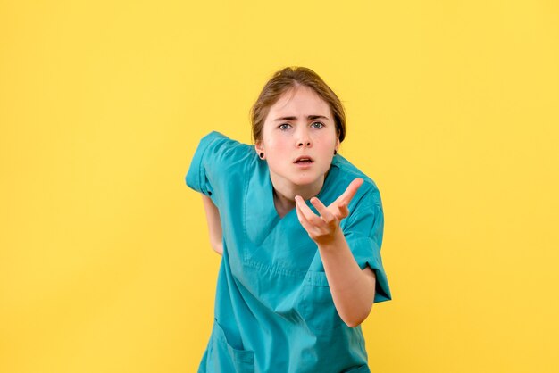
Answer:
[[213, 320], [210, 348], [207, 372], [254, 372], [254, 351], [231, 346], [216, 319]]

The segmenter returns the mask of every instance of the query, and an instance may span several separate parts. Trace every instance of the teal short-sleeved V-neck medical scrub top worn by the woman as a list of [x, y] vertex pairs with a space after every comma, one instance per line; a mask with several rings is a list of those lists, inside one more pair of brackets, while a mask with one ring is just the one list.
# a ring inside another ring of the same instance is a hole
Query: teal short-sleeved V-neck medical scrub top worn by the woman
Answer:
[[[364, 183], [340, 228], [359, 267], [375, 271], [380, 303], [391, 295], [380, 258], [378, 188], [338, 154], [317, 197], [328, 206], [354, 178]], [[213, 330], [198, 372], [370, 372], [361, 327], [338, 316], [317, 245], [295, 209], [278, 215], [268, 164], [254, 145], [211, 132], [186, 182], [212, 199], [223, 231]]]

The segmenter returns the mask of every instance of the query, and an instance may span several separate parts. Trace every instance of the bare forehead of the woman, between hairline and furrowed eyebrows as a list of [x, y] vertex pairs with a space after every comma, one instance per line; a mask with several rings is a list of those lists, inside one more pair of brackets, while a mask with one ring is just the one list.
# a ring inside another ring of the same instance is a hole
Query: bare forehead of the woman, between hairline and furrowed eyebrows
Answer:
[[330, 106], [313, 88], [298, 86], [286, 91], [280, 99], [270, 107], [273, 115], [324, 115], [330, 118]]

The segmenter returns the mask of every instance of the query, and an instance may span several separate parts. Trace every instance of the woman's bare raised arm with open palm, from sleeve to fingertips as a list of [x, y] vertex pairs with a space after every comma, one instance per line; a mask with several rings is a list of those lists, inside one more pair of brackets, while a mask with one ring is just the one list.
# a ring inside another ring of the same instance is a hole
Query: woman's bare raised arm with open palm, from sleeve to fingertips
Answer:
[[362, 184], [363, 179], [356, 178], [346, 192], [328, 207], [318, 198], [311, 198], [320, 216], [305, 204], [303, 198], [296, 196], [297, 217], [318, 245], [334, 305], [348, 327], [356, 327], [367, 319], [376, 286], [374, 272], [369, 267], [359, 267], [339, 227], [339, 222], [349, 215], [347, 205]]

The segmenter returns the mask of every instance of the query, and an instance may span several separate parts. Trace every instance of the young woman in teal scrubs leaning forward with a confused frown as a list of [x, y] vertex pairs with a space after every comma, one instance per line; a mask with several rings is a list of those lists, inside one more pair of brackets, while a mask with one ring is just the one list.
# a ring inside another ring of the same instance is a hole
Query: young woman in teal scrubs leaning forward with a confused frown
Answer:
[[222, 254], [198, 372], [369, 372], [360, 324], [391, 299], [384, 219], [375, 183], [338, 154], [342, 104], [286, 68], [251, 113], [254, 145], [214, 131], [186, 177]]

